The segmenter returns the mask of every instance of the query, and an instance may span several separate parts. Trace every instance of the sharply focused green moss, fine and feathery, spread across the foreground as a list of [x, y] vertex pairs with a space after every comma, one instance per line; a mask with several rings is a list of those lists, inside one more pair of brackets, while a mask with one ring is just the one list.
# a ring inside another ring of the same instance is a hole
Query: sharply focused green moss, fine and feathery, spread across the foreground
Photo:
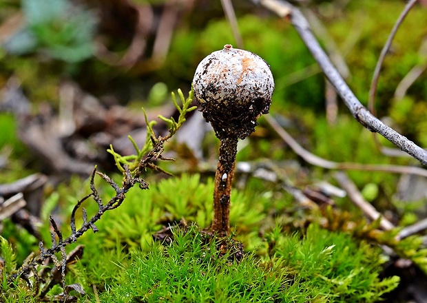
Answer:
[[[380, 280], [381, 249], [314, 224], [303, 237], [279, 227], [267, 233], [271, 251], [262, 260], [220, 256], [218, 242], [196, 227], [174, 238], [146, 253], [98, 249], [73, 272], [96, 286], [101, 302], [376, 302], [399, 282]], [[87, 300], [96, 301], [91, 291]]]

